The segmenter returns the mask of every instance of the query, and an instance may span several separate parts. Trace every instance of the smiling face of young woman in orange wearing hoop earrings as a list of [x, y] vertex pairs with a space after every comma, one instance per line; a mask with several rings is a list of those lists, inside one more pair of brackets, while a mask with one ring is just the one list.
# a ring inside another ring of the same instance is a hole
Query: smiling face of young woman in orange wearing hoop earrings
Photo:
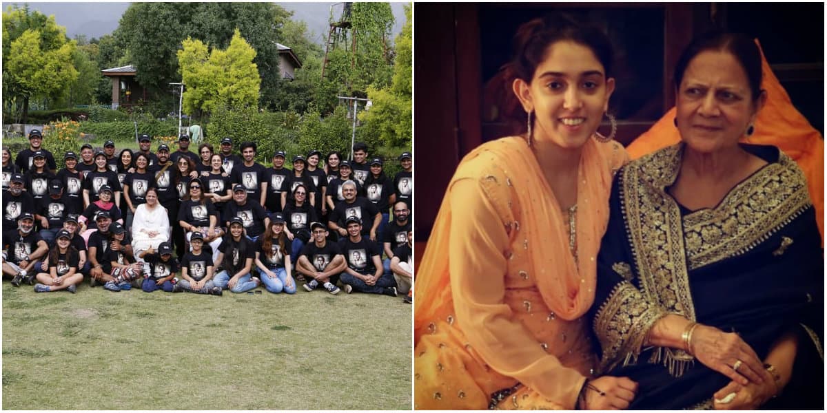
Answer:
[[526, 112], [534, 111], [534, 140], [577, 149], [600, 126], [614, 79], [590, 48], [561, 40], [547, 47], [531, 83], [518, 78], [513, 86]]

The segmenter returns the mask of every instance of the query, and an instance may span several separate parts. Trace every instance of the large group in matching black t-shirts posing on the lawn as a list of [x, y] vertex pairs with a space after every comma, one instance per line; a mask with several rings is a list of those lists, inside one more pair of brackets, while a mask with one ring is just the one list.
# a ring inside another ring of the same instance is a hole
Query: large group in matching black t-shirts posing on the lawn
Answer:
[[313, 150], [288, 169], [281, 150], [271, 168], [257, 163], [254, 142], [240, 156], [231, 138], [195, 154], [180, 135], [177, 150], [152, 153], [140, 135], [117, 155], [112, 140], [84, 144], [55, 171], [41, 131], [28, 137], [14, 162], [2, 148], [2, 271], [16, 287], [75, 292], [88, 276], [111, 291], [294, 293], [299, 282], [337, 294], [341, 282], [412, 302], [409, 152], [391, 180], [361, 142], [352, 162], [332, 152], [320, 165]]

